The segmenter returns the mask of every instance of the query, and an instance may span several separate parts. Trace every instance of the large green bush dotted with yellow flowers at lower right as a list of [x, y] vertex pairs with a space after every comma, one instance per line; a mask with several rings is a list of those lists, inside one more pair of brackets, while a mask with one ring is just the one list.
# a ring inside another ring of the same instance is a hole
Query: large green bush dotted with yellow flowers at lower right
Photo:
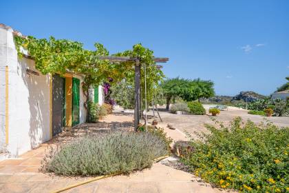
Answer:
[[195, 175], [242, 192], [288, 191], [289, 128], [242, 124], [241, 118], [230, 128], [206, 128], [209, 133], [202, 134], [202, 141], [192, 139], [193, 152], [181, 158]]

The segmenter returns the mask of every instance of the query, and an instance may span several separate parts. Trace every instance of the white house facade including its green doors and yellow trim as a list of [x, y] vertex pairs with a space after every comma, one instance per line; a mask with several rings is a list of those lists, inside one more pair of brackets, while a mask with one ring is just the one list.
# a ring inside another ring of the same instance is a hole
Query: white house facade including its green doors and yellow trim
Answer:
[[[87, 117], [83, 76], [43, 75], [17, 57], [12, 28], [0, 25], [0, 154], [18, 156]], [[98, 103], [103, 103], [102, 87]], [[61, 94], [59, 94], [61, 93]]]

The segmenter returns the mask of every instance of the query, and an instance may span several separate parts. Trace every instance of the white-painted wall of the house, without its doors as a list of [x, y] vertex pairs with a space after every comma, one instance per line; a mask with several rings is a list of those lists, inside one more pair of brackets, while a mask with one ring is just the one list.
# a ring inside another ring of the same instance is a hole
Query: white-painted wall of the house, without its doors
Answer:
[[[50, 139], [50, 75], [37, 71], [34, 61], [17, 57], [11, 28], [0, 26], [0, 148], [5, 143], [5, 66], [9, 68], [9, 144], [11, 156], [18, 156]], [[85, 122], [83, 77], [80, 89], [80, 121]], [[1, 149], [0, 149], [1, 150]]]

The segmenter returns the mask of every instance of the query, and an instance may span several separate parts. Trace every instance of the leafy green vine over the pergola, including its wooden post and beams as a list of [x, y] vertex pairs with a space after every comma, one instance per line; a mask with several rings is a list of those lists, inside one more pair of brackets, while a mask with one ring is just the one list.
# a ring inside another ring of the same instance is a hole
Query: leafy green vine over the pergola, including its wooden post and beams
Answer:
[[[109, 52], [100, 43], [95, 43], [96, 50], [85, 50], [83, 43], [66, 39], [36, 39], [34, 37], [15, 36], [14, 41], [19, 57], [34, 59], [35, 67], [42, 74], [65, 74], [69, 72], [85, 75], [83, 90], [88, 91], [90, 85], [99, 85], [108, 78], [118, 82], [129, 79], [135, 82], [135, 129], [140, 122], [140, 85], [152, 92], [154, 85], [164, 75], [156, 62], [167, 62], [168, 58], [153, 57], [153, 51], [141, 44], [133, 45], [133, 50], [126, 50], [109, 56]], [[23, 54], [22, 48], [28, 50]], [[145, 79], [141, 77], [144, 67]], [[145, 74], [145, 72], [148, 72]], [[147, 84], [149, 80], [149, 84]], [[144, 82], [142, 82], [144, 81]]]

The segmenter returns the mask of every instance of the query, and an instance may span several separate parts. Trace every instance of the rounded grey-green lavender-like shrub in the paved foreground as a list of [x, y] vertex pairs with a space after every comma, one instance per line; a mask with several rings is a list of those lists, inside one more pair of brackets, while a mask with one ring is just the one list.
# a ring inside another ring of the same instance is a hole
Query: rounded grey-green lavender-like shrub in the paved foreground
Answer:
[[112, 132], [52, 149], [42, 168], [65, 176], [129, 173], [151, 167], [153, 159], [167, 153], [164, 142], [149, 132]]

